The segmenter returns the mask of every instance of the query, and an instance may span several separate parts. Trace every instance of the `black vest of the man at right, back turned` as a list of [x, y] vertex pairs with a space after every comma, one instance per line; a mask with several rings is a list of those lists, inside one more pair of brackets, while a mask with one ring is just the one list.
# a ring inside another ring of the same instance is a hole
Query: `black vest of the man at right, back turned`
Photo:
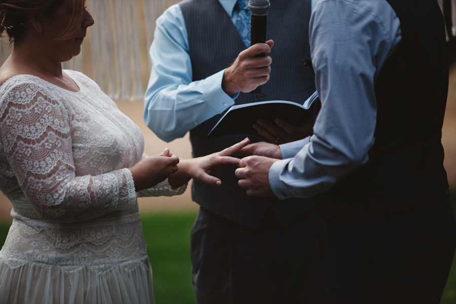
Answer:
[[387, 1], [402, 39], [375, 83], [375, 143], [365, 165], [318, 196], [327, 220], [414, 210], [448, 188], [441, 144], [448, 92], [442, 13], [435, 0]]

